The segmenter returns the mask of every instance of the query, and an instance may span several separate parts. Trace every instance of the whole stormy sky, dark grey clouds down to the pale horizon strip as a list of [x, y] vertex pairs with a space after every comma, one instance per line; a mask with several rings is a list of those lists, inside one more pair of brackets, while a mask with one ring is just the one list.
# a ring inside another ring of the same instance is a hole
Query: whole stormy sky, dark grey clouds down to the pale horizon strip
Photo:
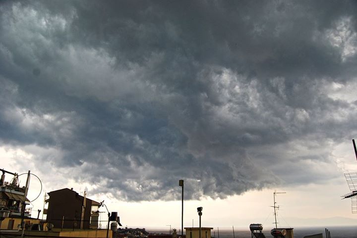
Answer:
[[34, 209], [67, 187], [123, 225], [179, 229], [183, 179], [185, 226], [203, 206], [207, 226], [269, 227], [274, 190], [289, 226], [356, 218], [340, 200], [357, 171], [356, 1], [1, 1], [0, 13], [0, 166], [42, 179]]

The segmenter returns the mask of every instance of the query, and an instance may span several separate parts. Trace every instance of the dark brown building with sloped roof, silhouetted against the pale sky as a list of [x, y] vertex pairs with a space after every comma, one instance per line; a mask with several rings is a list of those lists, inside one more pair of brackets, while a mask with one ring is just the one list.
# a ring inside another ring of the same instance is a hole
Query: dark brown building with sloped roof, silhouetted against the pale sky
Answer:
[[52, 223], [54, 228], [98, 228], [99, 202], [85, 198], [73, 189], [55, 190], [48, 194], [46, 222]]

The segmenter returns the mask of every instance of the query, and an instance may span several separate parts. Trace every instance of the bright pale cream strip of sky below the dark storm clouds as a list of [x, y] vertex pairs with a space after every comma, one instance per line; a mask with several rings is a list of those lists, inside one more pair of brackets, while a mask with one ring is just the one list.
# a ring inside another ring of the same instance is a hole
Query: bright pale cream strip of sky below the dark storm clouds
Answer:
[[[340, 146], [345, 147], [345, 146]], [[347, 146], [348, 147], [348, 146]], [[350, 146], [351, 147], [351, 146]], [[341, 154], [342, 151], [336, 151]], [[348, 154], [353, 151], [348, 152]], [[26, 159], [26, 153], [20, 150], [11, 150], [0, 147], [0, 156], [3, 158], [3, 168], [8, 171], [18, 172], [16, 170], [24, 168], [25, 165], [15, 164], [14, 156]], [[346, 155], [346, 157], [349, 157]], [[342, 158], [343, 160], [343, 158]], [[350, 160], [350, 159], [349, 159]], [[19, 162], [19, 161], [18, 161]], [[346, 161], [347, 162], [351, 161]], [[30, 165], [28, 168], [31, 173], [40, 175], [37, 166]], [[348, 167], [354, 167], [348, 164]], [[54, 175], [56, 176], [56, 175]], [[21, 184], [26, 181], [26, 176], [20, 178]], [[40, 176], [39, 176], [40, 177]], [[6, 175], [6, 181], [12, 176]], [[40, 177], [41, 178], [41, 177]], [[52, 178], [54, 179], [54, 178]], [[51, 180], [52, 180], [51, 179]], [[33, 203], [32, 217], [37, 216], [37, 209], [43, 209], [44, 192], [58, 190], [63, 188], [73, 188], [76, 192], [83, 195], [85, 185], [80, 185], [71, 181], [63, 184], [62, 187], [51, 188], [43, 181], [43, 191], [39, 198]], [[31, 187], [32, 186], [32, 187]], [[38, 194], [39, 183], [35, 177], [31, 177], [29, 198], [34, 198]], [[181, 188], [177, 186], [177, 192]], [[319, 227], [326, 225], [353, 225], [357, 221], [356, 214], [351, 213], [351, 200], [341, 200], [341, 195], [348, 192], [348, 186], [341, 172], [341, 177], [334, 180], [333, 184], [309, 184], [294, 188], [280, 187], [275, 189], [278, 192], [287, 192], [286, 194], [277, 194], [276, 201], [280, 206], [277, 211], [279, 225], [284, 227]], [[262, 223], [263, 227], [273, 227], [274, 210], [273, 205], [274, 189], [253, 190], [241, 195], [229, 196], [227, 199], [205, 198], [198, 200], [184, 200], [184, 227], [198, 226], [198, 215], [196, 207], [203, 207], [202, 226], [205, 227], [230, 227], [237, 229], [248, 229], [251, 223]], [[87, 197], [102, 201], [108, 206], [110, 211], [118, 211], [120, 221], [123, 227], [130, 228], [155, 228], [164, 229], [166, 224], [172, 225], [172, 229], [179, 231], [181, 227], [181, 201], [142, 201], [142, 202], [124, 202], [116, 201], [113, 197], [96, 196], [87, 191]], [[103, 208], [101, 208], [103, 209]], [[105, 209], [103, 210], [105, 211]], [[105, 211], [106, 212], [106, 211]], [[106, 213], [103, 213], [102, 220], [106, 220]], [[40, 218], [42, 215], [40, 215]], [[334, 218], [330, 222], [326, 219]], [[346, 223], [347, 219], [353, 219]], [[336, 223], [337, 222], [337, 223]], [[105, 222], [102, 224], [105, 226]]]

